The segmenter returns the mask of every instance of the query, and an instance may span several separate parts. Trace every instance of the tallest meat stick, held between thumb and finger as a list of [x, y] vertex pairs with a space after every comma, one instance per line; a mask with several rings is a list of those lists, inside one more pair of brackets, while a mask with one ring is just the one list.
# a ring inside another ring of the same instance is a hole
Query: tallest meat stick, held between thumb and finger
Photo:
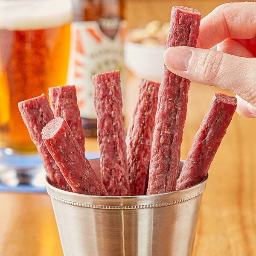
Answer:
[[[166, 48], [195, 47], [200, 19], [201, 14], [195, 9], [173, 6]], [[164, 67], [158, 93], [148, 195], [171, 192], [176, 188], [189, 84], [189, 80], [173, 74]]]

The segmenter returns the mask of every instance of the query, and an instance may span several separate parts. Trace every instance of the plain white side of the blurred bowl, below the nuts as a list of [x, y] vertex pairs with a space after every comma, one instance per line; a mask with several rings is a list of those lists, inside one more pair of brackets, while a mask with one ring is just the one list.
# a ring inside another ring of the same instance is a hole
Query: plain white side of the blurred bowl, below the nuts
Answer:
[[161, 82], [164, 70], [164, 45], [126, 42], [125, 66], [137, 77]]

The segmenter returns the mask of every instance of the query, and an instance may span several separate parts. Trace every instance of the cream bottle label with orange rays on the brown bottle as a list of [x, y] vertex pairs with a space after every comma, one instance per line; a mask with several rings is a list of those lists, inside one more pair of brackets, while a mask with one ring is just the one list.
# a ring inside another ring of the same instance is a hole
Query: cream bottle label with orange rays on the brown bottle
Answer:
[[71, 24], [67, 84], [76, 85], [82, 117], [96, 119], [92, 76], [113, 70], [122, 74], [124, 34], [125, 22], [119, 17]]

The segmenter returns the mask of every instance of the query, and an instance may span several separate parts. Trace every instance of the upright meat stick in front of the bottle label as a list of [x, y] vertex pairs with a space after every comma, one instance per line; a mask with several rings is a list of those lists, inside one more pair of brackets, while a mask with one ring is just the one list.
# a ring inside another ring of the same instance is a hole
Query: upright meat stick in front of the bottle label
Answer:
[[93, 76], [101, 178], [111, 196], [130, 195], [120, 72]]

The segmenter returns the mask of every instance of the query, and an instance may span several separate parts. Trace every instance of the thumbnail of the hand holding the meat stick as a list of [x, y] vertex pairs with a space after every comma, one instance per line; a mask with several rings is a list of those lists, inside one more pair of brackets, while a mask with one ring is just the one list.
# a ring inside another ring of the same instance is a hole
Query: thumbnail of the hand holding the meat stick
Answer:
[[175, 70], [186, 71], [191, 56], [192, 52], [189, 50], [180, 47], [169, 47], [164, 52], [163, 58], [167, 68], [170, 67]]

